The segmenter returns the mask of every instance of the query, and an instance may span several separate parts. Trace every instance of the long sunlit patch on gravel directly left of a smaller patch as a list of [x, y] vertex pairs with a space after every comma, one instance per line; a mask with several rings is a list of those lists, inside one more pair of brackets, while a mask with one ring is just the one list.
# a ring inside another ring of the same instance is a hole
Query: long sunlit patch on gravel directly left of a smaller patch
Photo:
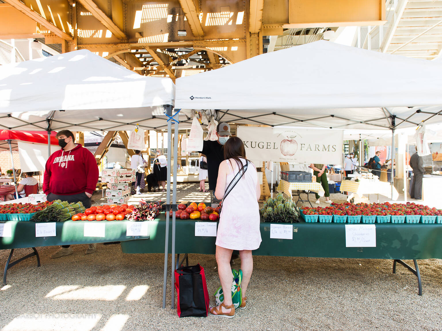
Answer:
[[[66, 288], [71, 287], [71, 289]], [[102, 300], [112, 301], [117, 299], [126, 289], [124, 285], [106, 286], [58, 286], [46, 297], [53, 297], [54, 300]]]

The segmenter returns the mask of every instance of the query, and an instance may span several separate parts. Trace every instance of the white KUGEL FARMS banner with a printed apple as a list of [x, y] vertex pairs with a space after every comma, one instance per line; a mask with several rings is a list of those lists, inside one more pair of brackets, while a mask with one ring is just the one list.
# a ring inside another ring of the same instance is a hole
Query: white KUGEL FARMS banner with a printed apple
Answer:
[[296, 163], [342, 163], [343, 131], [238, 127], [246, 157]]

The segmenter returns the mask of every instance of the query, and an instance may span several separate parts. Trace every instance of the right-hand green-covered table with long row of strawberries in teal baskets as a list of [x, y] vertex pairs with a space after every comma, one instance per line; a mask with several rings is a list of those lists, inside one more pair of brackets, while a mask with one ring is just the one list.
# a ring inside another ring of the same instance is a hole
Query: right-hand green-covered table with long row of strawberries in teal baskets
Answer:
[[[277, 217], [276, 212], [279, 208], [281, 214], [284, 214], [283, 208], [285, 206], [287, 206], [287, 202], [282, 201], [274, 207], [275, 214], [272, 217], [275, 222], [261, 222], [262, 243], [257, 250], [253, 251], [254, 255], [394, 260], [393, 272], [396, 270], [396, 263], [400, 263], [418, 278], [419, 294], [422, 293], [422, 287], [416, 260], [442, 259], [442, 224], [437, 223], [440, 222], [440, 217], [427, 215], [441, 214], [440, 211], [435, 212], [414, 204], [335, 204], [322, 208], [324, 214], [330, 214], [324, 215], [326, 216], [324, 222], [318, 222], [320, 215], [314, 214], [316, 211], [320, 211], [321, 207], [317, 207], [309, 208], [314, 210], [310, 219], [309, 215], [304, 215], [297, 223], [283, 223], [282, 219]], [[287, 208], [290, 208], [290, 204]], [[263, 211], [266, 212], [266, 208], [263, 208], [261, 212], [262, 217], [268, 218], [268, 215], [263, 214]], [[365, 219], [365, 224], [361, 222], [361, 214], [355, 215], [363, 212], [370, 216]], [[417, 213], [419, 215], [414, 215]], [[380, 214], [379, 218], [377, 214]], [[409, 216], [408, 221], [406, 220], [407, 216]], [[351, 217], [348, 221], [352, 223], [347, 222], [348, 217]], [[392, 217], [397, 223], [392, 223]], [[306, 222], [305, 219], [309, 222]], [[202, 236], [197, 233], [202, 223], [206, 222], [200, 219], [177, 218], [175, 253], [215, 253], [216, 237]], [[197, 225], [198, 229], [196, 229]], [[272, 229], [275, 226], [276, 229]], [[159, 219], [149, 221], [149, 240], [124, 241], [121, 243], [122, 251], [125, 253], [163, 253], [165, 227], [165, 214], [160, 214]], [[367, 244], [352, 243], [351, 239], [353, 237], [358, 239], [358, 232], [364, 232], [366, 228], [371, 230], [371, 237], [370, 231], [368, 235], [373, 247], [361, 247], [367, 246]], [[351, 237], [351, 231], [355, 233], [353, 237]], [[196, 233], [197, 235], [195, 235]], [[283, 239], [286, 236], [292, 237], [292, 239]], [[168, 242], [169, 252], [171, 252], [170, 233]], [[405, 259], [414, 260], [415, 269], [402, 261]]]

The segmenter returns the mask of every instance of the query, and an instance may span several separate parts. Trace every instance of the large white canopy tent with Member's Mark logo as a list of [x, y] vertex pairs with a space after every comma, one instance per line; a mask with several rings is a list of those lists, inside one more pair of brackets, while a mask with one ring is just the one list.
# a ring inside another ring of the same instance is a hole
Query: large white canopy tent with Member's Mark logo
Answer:
[[391, 130], [441, 122], [441, 90], [438, 62], [321, 40], [181, 77], [175, 108], [223, 109], [219, 118], [236, 123]]

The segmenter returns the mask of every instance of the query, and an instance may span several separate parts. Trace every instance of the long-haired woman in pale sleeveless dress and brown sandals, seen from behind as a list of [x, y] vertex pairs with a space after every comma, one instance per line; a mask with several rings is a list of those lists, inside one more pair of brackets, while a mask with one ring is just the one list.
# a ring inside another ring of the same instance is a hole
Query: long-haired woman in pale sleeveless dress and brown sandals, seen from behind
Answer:
[[[241, 172], [238, 182], [232, 188], [229, 195], [223, 200], [220, 222], [217, 230], [216, 259], [218, 263], [218, 275], [223, 293], [231, 292], [232, 268], [230, 259], [233, 250], [240, 252], [241, 270], [241, 303], [239, 308], [246, 307], [246, 290], [253, 271], [252, 250], [258, 249], [261, 244], [259, 231], [259, 207], [258, 200], [261, 190], [258, 183], [256, 168], [253, 163], [246, 159], [244, 143], [238, 137], [232, 137], [225, 143], [225, 161], [221, 162], [215, 196], [223, 199], [225, 190], [230, 182]], [[242, 173], [244, 165], [248, 167]], [[232, 296], [224, 296], [224, 302], [210, 309], [210, 314], [232, 318], [235, 316], [235, 308], [232, 304]]]

